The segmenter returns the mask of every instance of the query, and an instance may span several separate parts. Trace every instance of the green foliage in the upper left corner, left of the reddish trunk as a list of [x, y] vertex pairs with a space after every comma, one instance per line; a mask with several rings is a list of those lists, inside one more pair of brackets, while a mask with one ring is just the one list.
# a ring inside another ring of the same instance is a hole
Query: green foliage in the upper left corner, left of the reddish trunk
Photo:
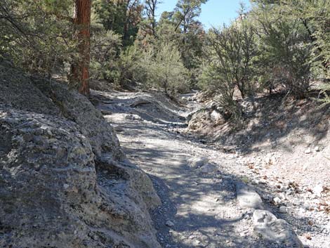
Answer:
[[1, 1], [0, 57], [32, 73], [60, 72], [76, 46], [70, 39], [71, 23], [54, 11], [68, 9], [67, 4], [70, 1]]

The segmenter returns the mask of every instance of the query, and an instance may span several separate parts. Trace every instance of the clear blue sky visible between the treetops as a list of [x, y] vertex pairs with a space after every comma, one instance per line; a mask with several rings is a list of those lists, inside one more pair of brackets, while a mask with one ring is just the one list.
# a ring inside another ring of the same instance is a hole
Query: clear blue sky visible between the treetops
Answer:
[[[211, 26], [218, 27], [223, 23], [229, 24], [237, 17], [237, 10], [241, 2], [249, 6], [249, 0], [209, 0], [202, 5], [199, 20], [206, 29]], [[176, 3], [177, 0], [163, 0], [163, 4], [158, 6], [157, 14], [160, 16], [163, 11], [173, 11]]]

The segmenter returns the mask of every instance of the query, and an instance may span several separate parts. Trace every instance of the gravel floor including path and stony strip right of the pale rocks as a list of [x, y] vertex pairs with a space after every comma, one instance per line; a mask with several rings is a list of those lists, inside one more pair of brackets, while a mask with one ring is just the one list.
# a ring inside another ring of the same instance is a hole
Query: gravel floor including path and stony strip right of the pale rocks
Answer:
[[237, 181], [254, 185], [265, 208], [289, 222], [305, 247], [329, 247], [326, 188], [317, 195], [316, 188], [269, 169], [269, 159], [281, 154], [228, 153], [184, 134], [185, 117], [200, 107], [196, 102], [178, 107], [160, 94], [93, 95], [126, 155], [149, 174], [161, 197], [153, 218], [162, 247], [282, 247], [253, 234], [252, 212], [237, 203]]

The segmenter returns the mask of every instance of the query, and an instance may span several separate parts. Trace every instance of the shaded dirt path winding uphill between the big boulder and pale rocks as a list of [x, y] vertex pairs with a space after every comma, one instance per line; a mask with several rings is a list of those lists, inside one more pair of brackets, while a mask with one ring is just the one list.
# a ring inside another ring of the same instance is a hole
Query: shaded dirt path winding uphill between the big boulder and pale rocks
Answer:
[[[244, 173], [237, 155], [176, 132], [191, 109], [164, 100], [159, 105], [142, 93], [102, 95], [99, 107], [126, 155], [150, 175], [161, 197], [153, 219], [162, 247], [281, 247], [254, 235], [251, 211], [237, 204], [234, 171]], [[141, 98], [144, 103], [131, 107]]]

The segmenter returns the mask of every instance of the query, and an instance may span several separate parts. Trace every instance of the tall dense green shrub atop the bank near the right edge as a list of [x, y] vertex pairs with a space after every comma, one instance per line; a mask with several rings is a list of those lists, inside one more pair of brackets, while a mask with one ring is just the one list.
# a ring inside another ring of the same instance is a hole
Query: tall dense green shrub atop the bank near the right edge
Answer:
[[305, 97], [310, 86], [312, 46], [301, 18], [282, 4], [260, 4], [253, 10], [260, 37], [261, 84], [283, 86], [298, 98]]

